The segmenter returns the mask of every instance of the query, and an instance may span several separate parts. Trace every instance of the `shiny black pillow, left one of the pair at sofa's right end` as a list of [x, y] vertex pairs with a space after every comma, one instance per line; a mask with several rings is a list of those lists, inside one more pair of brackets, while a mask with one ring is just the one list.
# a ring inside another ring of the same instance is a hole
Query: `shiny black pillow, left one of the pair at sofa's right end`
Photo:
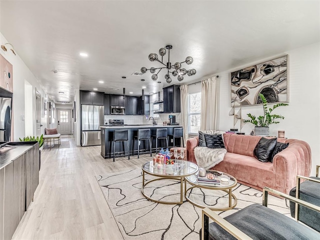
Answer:
[[256, 144], [253, 155], [259, 161], [266, 162], [269, 160], [276, 144], [276, 138], [267, 139], [261, 137], [259, 142]]

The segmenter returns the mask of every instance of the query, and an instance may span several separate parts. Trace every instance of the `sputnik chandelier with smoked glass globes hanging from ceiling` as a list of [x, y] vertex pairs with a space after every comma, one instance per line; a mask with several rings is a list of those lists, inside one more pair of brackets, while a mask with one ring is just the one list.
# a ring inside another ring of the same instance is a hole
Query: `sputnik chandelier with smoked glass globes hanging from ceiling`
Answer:
[[[168, 49], [168, 61], [165, 63], [163, 63], [163, 56], [165, 55], [166, 53], [166, 49]], [[158, 61], [160, 62], [161, 64], [163, 64], [164, 66], [162, 67], [150, 67], [149, 69], [146, 69], [146, 67], [142, 66], [140, 71], [142, 73], [145, 73], [147, 70], [149, 70], [152, 74], [151, 78], [152, 80], [156, 81], [158, 79], [158, 74], [159, 72], [163, 69], [163, 68], [166, 68], [167, 69], [167, 73], [165, 73], [164, 75], [164, 78], [165, 78], [165, 81], [167, 83], [170, 83], [172, 81], [171, 77], [170, 77], [170, 73], [173, 75], [173, 76], [177, 76], [177, 79], [178, 81], [182, 81], [183, 80], [183, 76], [185, 74], [187, 74], [188, 76], [192, 76], [196, 73], [196, 70], [194, 68], [192, 69], [189, 69], [189, 70], [186, 70], [185, 68], [181, 68], [181, 64], [182, 63], [186, 63], [186, 64], [191, 64], [193, 62], [193, 58], [191, 56], [187, 56], [185, 57], [185, 61], [182, 61], [182, 62], [175, 62], [173, 66], [171, 66], [171, 62], [170, 62], [170, 49], [172, 49], [172, 45], [166, 45], [165, 48], [161, 47], [159, 49], [159, 54], [161, 56], [161, 61], [158, 59], [158, 55], [156, 53], [150, 53], [149, 54], [149, 60], [150, 61]], [[174, 70], [170, 71], [171, 68], [174, 68]], [[155, 73], [155, 70], [158, 70], [157, 73]]]

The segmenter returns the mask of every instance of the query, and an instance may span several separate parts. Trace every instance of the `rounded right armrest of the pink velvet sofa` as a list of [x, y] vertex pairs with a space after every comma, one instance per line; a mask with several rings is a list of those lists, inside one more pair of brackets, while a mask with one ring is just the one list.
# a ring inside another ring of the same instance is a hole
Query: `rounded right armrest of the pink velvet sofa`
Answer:
[[276, 189], [288, 194], [295, 186], [296, 175], [310, 175], [311, 149], [305, 141], [288, 139], [286, 142], [288, 147], [274, 155], [272, 165]]

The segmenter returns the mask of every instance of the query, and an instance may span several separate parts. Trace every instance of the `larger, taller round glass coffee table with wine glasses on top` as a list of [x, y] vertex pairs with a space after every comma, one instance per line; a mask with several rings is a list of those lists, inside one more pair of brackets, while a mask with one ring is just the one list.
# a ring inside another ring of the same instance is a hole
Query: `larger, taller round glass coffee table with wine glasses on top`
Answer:
[[[142, 168], [142, 195], [151, 201], [164, 203], [164, 204], [182, 204], [183, 203], [183, 178], [195, 174], [198, 171], [198, 166], [190, 161], [185, 160], [175, 160], [174, 164], [163, 164], [161, 169], [158, 169], [157, 166], [153, 165], [153, 161], [147, 161], [141, 166]], [[152, 176], [157, 176], [157, 178], [148, 180], [145, 182], [144, 175], [149, 174]], [[144, 187], [157, 180], [163, 179], [175, 179], [180, 181], [180, 201], [164, 201], [156, 200], [151, 196], [147, 196], [144, 193]]]

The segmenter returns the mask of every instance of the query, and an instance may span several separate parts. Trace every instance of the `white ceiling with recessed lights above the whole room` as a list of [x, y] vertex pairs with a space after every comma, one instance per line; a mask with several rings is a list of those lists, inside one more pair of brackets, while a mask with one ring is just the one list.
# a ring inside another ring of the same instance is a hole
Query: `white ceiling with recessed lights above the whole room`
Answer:
[[307, 0], [1, 0], [0, 31], [49, 96], [72, 101], [75, 89], [140, 95], [142, 85], [145, 93], [168, 85], [164, 70], [161, 84], [131, 75], [159, 67], [148, 54], [168, 43], [172, 64], [193, 57], [183, 64], [194, 76], [172, 77], [184, 84], [317, 42], [319, 13], [319, 1]]

